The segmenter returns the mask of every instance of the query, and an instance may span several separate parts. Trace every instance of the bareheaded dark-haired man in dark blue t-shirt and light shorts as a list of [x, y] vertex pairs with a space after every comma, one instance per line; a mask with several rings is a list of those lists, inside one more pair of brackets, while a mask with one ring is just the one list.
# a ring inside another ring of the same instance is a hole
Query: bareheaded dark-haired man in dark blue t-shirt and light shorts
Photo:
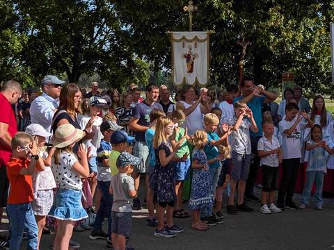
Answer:
[[[132, 177], [134, 177], [134, 185], [136, 189], [139, 188], [139, 176], [145, 173], [145, 163], [148, 158], [148, 144], [145, 142], [145, 132], [150, 127], [150, 113], [156, 108], [164, 110], [160, 103], [157, 102], [159, 98], [159, 88], [157, 85], [150, 84], [145, 89], [146, 99], [138, 103], [132, 110], [132, 115], [129, 121], [129, 128], [134, 131], [136, 143], [134, 144], [134, 156], [143, 158], [143, 163], [134, 167]], [[141, 201], [136, 198], [134, 200], [134, 210], [141, 209]]]

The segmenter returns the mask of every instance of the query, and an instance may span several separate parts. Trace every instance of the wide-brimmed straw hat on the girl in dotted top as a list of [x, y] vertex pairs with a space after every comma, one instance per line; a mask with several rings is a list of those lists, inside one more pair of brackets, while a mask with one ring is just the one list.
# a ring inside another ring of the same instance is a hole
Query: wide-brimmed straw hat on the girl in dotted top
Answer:
[[79, 141], [84, 135], [84, 131], [74, 128], [72, 124], [63, 124], [58, 126], [56, 133], [52, 135], [51, 143], [56, 148], [63, 148]]

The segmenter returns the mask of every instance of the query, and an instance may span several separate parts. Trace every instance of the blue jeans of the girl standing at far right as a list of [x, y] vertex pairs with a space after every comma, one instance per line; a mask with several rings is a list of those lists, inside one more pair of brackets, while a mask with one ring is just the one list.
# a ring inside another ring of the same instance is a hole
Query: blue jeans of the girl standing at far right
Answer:
[[322, 206], [324, 201], [322, 200], [322, 186], [324, 185], [324, 172], [309, 171], [306, 172], [306, 182], [301, 194], [301, 202], [308, 205], [308, 200], [310, 199], [313, 182], [315, 181], [315, 194], [313, 199], [315, 200], [315, 206]]

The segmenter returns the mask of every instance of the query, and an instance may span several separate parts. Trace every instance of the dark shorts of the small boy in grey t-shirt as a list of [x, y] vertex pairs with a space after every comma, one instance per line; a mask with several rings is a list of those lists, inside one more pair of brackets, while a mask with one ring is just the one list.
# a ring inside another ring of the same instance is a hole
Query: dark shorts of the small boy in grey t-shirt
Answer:
[[130, 236], [131, 212], [111, 211], [111, 233]]

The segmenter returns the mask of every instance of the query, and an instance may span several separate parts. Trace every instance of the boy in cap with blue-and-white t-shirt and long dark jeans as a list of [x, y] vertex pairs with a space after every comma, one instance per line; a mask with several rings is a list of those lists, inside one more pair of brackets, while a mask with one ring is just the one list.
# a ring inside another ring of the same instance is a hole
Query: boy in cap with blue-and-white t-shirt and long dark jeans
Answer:
[[[113, 196], [109, 193], [111, 181], [111, 171], [109, 168], [109, 155], [111, 153], [111, 135], [120, 131], [122, 126], [116, 122], [106, 120], [100, 125], [101, 139], [100, 147], [97, 149], [97, 188], [101, 192], [100, 208], [97, 210], [93, 231], [90, 233], [90, 240], [107, 239], [107, 247], [111, 247], [111, 207], [113, 206]], [[104, 218], [108, 217], [108, 233], [102, 231]]]

